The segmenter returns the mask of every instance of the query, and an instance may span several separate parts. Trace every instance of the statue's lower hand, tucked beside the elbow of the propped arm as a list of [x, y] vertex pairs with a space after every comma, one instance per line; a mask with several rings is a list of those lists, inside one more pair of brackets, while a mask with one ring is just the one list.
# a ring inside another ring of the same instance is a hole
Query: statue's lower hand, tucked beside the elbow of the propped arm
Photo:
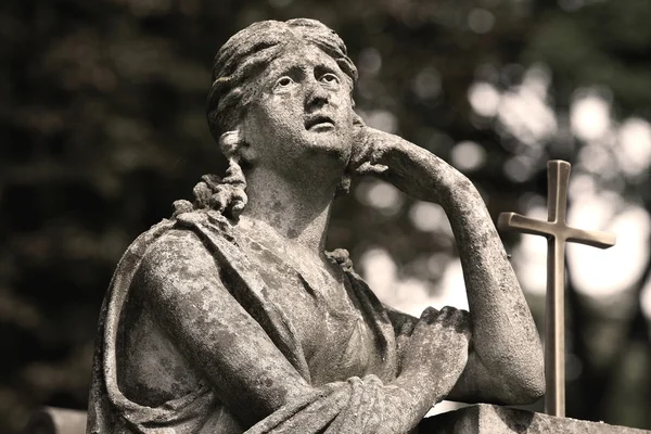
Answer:
[[470, 346], [470, 314], [446, 306], [421, 315], [403, 353], [403, 372], [447, 395], [463, 372]]

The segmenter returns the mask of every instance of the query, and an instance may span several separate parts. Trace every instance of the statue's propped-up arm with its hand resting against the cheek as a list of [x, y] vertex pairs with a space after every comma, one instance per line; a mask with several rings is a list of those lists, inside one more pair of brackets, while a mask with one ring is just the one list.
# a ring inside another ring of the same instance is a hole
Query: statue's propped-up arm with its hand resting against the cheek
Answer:
[[448, 398], [529, 403], [545, 390], [542, 349], [531, 311], [484, 201], [472, 182], [429, 151], [360, 124], [352, 168], [376, 175], [445, 209], [470, 306], [472, 352]]

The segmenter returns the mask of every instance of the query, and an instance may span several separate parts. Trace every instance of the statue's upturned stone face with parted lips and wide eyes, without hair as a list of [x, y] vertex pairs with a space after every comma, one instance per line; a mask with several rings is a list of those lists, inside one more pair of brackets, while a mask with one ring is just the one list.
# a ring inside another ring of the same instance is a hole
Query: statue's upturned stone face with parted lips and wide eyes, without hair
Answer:
[[269, 64], [256, 86], [241, 127], [254, 166], [291, 171], [314, 162], [345, 168], [353, 102], [349, 80], [332, 58], [296, 43]]

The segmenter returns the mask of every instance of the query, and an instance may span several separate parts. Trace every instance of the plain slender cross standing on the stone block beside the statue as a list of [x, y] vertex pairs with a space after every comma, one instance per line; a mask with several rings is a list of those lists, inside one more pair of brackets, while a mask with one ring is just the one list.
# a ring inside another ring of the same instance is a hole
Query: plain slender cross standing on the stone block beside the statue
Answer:
[[547, 237], [547, 307], [545, 314], [545, 411], [565, 416], [565, 243], [575, 242], [599, 248], [615, 244], [615, 234], [569, 227], [567, 181], [570, 163], [556, 159], [547, 163], [548, 221], [534, 220], [515, 213], [501, 213], [498, 227], [502, 230]]

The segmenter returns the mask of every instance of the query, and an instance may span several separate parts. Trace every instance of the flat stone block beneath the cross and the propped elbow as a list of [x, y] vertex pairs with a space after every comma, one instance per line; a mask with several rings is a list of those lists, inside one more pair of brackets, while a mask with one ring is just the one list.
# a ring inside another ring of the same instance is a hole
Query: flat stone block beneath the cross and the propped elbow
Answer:
[[651, 431], [557, 418], [514, 408], [480, 404], [427, 418], [421, 434], [651, 434]]

